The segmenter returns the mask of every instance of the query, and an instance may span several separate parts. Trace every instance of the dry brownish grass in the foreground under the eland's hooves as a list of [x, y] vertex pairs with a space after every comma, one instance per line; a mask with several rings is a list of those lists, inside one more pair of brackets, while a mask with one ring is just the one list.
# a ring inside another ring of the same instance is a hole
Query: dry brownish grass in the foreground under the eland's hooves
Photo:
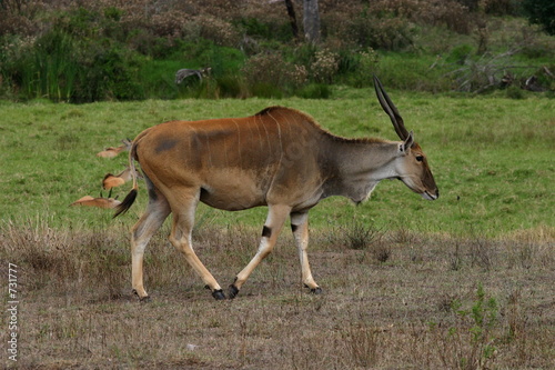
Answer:
[[[127, 231], [3, 224], [2, 272], [8, 262], [20, 267], [19, 368], [555, 364], [549, 230], [500, 240], [401, 230], [381, 232], [357, 249], [353, 233], [367, 230], [337, 228], [333, 238], [330, 230], [316, 230], [310, 256], [322, 296], [302, 288], [296, 251], [284, 232], [240, 296], [223, 302], [203, 289], [167, 242], [167, 231], [152, 240], [145, 260], [153, 300], [139, 303], [129, 287]], [[259, 233], [201, 228], [195, 250], [225, 286], [254, 253]], [[380, 248], [387, 258], [373, 251]]]

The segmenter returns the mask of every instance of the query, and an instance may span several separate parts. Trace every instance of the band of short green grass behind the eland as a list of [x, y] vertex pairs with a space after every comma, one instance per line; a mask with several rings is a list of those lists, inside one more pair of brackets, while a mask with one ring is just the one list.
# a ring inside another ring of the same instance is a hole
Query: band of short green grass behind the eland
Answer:
[[[144, 188], [132, 211], [114, 221], [110, 211], [68, 204], [85, 194], [98, 196], [103, 176], [125, 167], [124, 154], [99, 159], [94, 156], [98, 151], [173, 119], [242, 117], [266, 106], [283, 104], [310, 113], [337, 134], [396, 139], [370, 89], [343, 89], [335, 96], [325, 101], [148, 100], [82, 106], [2, 102], [0, 217], [16, 223], [44, 218], [51, 227], [63, 228], [131, 227], [143, 212]], [[498, 237], [528, 229], [553, 230], [553, 99], [397, 91], [391, 96], [428, 156], [441, 198], [428, 202], [398, 181], [384, 181], [360, 207], [342, 198], [322, 201], [311, 213], [313, 228], [356, 218], [387, 230], [424, 233]], [[129, 188], [127, 184], [114, 194], [122, 198]], [[203, 227], [261, 226], [265, 209], [231, 213], [201, 207], [198, 219], [203, 220]]]

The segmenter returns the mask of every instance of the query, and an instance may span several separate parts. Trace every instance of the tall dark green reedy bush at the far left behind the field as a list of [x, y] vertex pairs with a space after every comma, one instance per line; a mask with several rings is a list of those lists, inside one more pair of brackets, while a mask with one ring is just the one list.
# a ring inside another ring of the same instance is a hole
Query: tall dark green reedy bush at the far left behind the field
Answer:
[[88, 102], [143, 98], [138, 54], [118, 43], [83, 41], [59, 30], [44, 33], [16, 58], [2, 63], [2, 76], [20, 86], [21, 99]]

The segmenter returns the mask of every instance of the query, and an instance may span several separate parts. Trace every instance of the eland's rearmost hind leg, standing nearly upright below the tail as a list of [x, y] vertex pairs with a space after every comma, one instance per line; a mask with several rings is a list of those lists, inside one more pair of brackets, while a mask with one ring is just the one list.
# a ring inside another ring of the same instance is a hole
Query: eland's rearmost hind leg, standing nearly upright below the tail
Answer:
[[133, 292], [140, 300], [149, 298], [143, 283], [144, 249], [154, 232], [160, 229], [170, 214], [170, 204], [165, 197], [154, 188], [147, 177], [145, 180], [149, 188], [149, 206], [131, 230], [131, 283]]

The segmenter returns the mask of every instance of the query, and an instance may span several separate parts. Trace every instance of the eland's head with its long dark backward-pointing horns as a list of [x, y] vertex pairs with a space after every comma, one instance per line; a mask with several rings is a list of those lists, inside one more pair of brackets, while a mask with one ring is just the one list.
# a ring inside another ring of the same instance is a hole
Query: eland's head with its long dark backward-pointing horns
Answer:
[[390, 116], [395, 132], [402, 140], [398, 144], [398, 157], [395, 160], [395, 170], [398, 173], [396, 178], [403, 181], [408, 189], [421, 194], [424, 199], [435, 200], [440, 198], [440, 190], [435, 184], [434, 176], [427, 164], [426, 154], [424, 154], [418, 143], [414, 141], [413, 132], [406, 130], [397, 108], [393, 104], [383, 89], [382, 83], [375, 76], [374, 88], [380, 104], [387, 116]]

